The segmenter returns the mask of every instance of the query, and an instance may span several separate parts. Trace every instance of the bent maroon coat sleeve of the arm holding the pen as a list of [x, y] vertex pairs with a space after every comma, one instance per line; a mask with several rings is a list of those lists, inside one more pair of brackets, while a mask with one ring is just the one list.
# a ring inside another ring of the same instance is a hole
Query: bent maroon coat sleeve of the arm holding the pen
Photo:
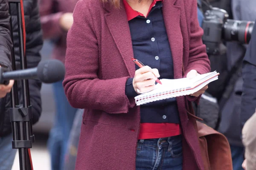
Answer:
[[98, 42], [90, 8], [79, 1], [73, 13], [74, 23], [67, 35], [63, 82], [67, 99], [74, 108], [127, 113], [130, 106], [125, 95], [128, 77], [99, 79]]

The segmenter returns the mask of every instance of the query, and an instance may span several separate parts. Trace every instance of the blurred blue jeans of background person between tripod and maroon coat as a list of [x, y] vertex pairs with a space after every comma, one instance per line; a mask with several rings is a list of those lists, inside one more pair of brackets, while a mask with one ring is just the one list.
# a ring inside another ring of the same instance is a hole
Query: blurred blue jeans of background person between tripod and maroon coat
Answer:
[[52, 170], [64, 170], [67, 142], [77, 109], [71, 107], [67, 101], [62, 81], [53, 84], [53, 93], [56, 114], [54, 126], [49, 134], [48, 149], [51, 157]]

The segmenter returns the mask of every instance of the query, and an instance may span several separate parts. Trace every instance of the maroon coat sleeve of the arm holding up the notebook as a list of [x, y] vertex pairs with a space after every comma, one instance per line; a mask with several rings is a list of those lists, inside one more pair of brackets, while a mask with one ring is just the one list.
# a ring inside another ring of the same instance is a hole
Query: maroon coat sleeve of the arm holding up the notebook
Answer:
[[[191, 70], [196, 70], [199, 74], [210, 71], [210, 62], [206, 54], [206, 46], [203, 44], [203, 29], [199, 26], [197, 15], [197, 1], [192, 1], [190, 13], [190, 40], [189, 40], [189, 61], [184, 76]], [[189, 101], [199, 101], [199, 97], [187, 96]]]

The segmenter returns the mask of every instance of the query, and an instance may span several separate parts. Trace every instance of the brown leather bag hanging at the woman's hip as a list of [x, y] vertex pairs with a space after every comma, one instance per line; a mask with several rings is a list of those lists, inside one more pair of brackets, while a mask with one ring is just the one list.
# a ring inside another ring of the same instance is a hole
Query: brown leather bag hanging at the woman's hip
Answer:
[[[187, 104], [188, 115], [195, 119], [202, 120], [195, 116], [192, 103], [188, 102]], [[195, 127], [198, 130], [202, 159], [204, 161], [204, 170], [233, 170], [230, 144], [227, 138], [212, 129], [212, 127], [199, 121], [195, 122]]]

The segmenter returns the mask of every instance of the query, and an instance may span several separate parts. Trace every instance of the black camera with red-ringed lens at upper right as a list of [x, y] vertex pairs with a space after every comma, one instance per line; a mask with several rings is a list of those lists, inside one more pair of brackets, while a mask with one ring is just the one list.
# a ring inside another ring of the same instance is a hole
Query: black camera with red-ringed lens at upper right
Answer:
[[249, 43], [254, 22], [230, 20], [227, 11], [220, 8], [207, 10], [204, 17], [202, 40], [207, 46], [207, 54], [220, 54], [219, 46], [223, 40]]

